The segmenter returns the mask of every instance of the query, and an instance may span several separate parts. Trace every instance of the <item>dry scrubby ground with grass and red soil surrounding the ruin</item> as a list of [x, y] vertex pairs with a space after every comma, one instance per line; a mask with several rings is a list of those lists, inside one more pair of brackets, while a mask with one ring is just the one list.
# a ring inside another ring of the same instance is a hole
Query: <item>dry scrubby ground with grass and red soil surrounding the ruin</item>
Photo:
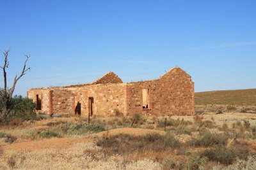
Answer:
[[196, 113], [166, 117], [165, 132], [165, 117], [118, 112], [90, 125], [70, 116], [13, 120], [0, 127], [0, 169], [255, 169], [253, 103], [200, 103]]

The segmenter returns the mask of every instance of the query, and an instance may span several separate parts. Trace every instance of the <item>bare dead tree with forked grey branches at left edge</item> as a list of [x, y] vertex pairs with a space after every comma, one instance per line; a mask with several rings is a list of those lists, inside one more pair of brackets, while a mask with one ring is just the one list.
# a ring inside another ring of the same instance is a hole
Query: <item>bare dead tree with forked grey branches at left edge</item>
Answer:
[[4, 64], [3, 66], [0, 66], [3, 69], [3, 80], [4, 80], [4, 89], [1, 90], [1, 102], [2, 102], [2, 107], [0, 108], [0, 116], [4, 118], [4, 120], [6, 121], [6, 118], [8, 117], [8, 113], [10, 112], [10, 102], [12, 100], [12, 95], [15, 89], [15, 86], [17, 84], [17, 81], [19, 81], [19, 79], [24, 76], [26, 74], [27, 71], [30, 71], [30, 67], [27, 67], [26, 64], [28, 62], [28, 59], [30, 57], [30, 55], [25, 55], [26, 56], [26, 60], [24, 62], [23, 65], [23, 69], [20, 73], [19, 76], [15, 76], [14, 80], [13, 80], [13, 84], [12, 84], [12, 88], [8, 88], [7, 87], [7, 74], [6, 74], [6, 69], [9, 66], [9, 60], [8, 60], [8, 54], [10, 52], [11, 48], [9, 47], [8, 50], [2, 52], [4, 55]]

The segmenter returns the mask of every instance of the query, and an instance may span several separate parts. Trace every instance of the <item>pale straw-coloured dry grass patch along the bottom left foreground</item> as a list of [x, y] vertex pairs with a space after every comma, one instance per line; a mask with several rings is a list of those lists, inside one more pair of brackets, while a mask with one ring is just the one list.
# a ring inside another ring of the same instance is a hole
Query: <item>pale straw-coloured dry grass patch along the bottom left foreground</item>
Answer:
[[106, 156], [94, 143], [77, 143], [63, 150], [20, 150], [6, 152], [0, 169], [161, 169], [152, 160], [126, 160], [120, 155]]

